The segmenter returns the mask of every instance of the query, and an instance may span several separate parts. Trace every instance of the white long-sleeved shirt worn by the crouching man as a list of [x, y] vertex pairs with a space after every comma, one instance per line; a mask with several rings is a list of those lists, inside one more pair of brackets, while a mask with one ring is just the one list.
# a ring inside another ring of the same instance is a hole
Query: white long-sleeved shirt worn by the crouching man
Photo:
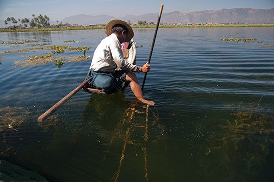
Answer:
[[90, 69], [115, 72], [117, 67], [125, 71], [141, 72], [141, 67], [124, 60], [121, 43], [115, 34], [101, 41], [94, 51]]

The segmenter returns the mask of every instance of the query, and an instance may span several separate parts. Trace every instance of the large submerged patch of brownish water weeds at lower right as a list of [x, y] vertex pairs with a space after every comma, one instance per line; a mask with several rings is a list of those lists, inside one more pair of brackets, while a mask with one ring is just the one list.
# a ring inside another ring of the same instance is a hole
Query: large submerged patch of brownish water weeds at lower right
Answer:
[[256, 175], [254, 171], [260, 171], [258, 167], [267, 162], [271, 155], [269, 146], [274, 143], [274, 117], [267, 113], [268, 107], [273, 107], [274, 100], [266, 99], [265, 102], [271, 103], [262, 104], [264, 97], [258, 103], [248, 106], [243, 106], [240, 102], [237, 110], [231, 114], [235, 119], [220, 125], [222, 133], [212, 133], [212, 138], [219, 139], [215, 146], [208, 148], [206, 155], [222, 155], [220, 158], [226, 169], [230, 169], [237, 159], [241, 159], [237, 163], [241, 162], [250, 175]]

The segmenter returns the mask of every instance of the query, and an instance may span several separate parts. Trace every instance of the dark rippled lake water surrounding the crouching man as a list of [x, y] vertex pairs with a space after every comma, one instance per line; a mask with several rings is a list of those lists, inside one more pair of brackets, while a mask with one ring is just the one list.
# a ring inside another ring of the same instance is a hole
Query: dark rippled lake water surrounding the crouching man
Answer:
[[[134, 31], [142, 65], [154, 29]], [[104, 30], [0, 33], [3, 42], [38, 40], [0, 44], [0, 116], [13, 125], [1, 125], [0, 159], [56, 182], [274, 181], [274, 47], [263, 46], [274, 44], [274, 27], [159, 28], [144, 87], [154, 106], [136, 104], [130, 88], [107, 96], [79, 91], [38, 123], [82, 83], [91, 60], [14, 67], [51, 51], [3, 52], [87, 46], [92, 57], [104, 37]]]

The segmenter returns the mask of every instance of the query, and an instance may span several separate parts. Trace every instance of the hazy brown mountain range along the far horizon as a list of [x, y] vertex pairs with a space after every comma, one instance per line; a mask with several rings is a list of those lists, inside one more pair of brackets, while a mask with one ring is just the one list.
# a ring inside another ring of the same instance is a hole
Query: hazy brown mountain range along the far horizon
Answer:
[[[123, 17], [114, 17], [108, 15], [91, 16], [80, 14], [69, 16], [63, 19], [63, 23], [89, 25], [89, 24], [107, 24], [110, 20], [121, 19], [126, 22], [137, 23], [138, 20], [157, 22], [158, 13], [149, 13], [143, 15], [126, 15]], [[233, 8], [221, 10], [195, 11], [190, 13], [181, 13], [174, 11], [162, 13], [161, 23], [274, 23], [274, 8], [272, 9], [252, 9], [252, 8]]]

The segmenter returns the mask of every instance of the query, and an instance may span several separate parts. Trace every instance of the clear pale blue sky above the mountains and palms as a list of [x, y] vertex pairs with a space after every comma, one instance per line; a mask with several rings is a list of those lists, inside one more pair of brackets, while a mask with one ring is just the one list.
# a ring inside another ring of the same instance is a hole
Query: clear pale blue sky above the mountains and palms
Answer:
[[128, 14], [158, 13], [160, 4], [164, 4], [163, 13], [274, 8], [274, 0], [0, 0], [0, 20], [31, 18], [32, 14], [47, 15], [53, 21], [78, 14], [106, 14], [120, 18]]

